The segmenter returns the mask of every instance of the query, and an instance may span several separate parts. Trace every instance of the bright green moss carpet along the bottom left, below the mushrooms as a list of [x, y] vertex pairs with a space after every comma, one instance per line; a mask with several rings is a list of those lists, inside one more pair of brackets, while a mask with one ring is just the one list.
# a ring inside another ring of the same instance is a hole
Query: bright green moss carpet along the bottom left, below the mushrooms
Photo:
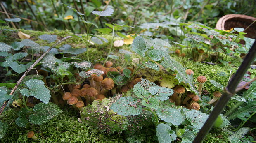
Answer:
[[31, 143], [32, 139], [28, 139], [26, 134], [34, 131], [40, 143], [123, 143], [125, 139], [118, 134], [107, 135], [100, 133], [98, 130], [80, 123], [78, 117], [71, 109], [64, 109], [62, 115], [50, 120], [44, 125], [31, 125], [21, 128], [15, 125], [17, 118], [15, 109], [7, 110], [0, 116], [2, 122], [9, 125], [7, 134], [0, 141], [1, 143]]

